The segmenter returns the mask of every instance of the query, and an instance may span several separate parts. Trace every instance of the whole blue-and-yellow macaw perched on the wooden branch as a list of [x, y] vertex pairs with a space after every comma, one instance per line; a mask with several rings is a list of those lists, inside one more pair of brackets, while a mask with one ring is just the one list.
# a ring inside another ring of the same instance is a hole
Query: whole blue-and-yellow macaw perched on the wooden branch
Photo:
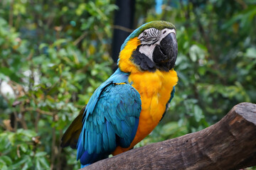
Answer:
[[174, 97], [178, 77], [176, 28], [151, 21], [124, 41], [118, 69], [92, 94], [62, 137], [78, 149], [81, 168], [132, 149], [158, 125]]

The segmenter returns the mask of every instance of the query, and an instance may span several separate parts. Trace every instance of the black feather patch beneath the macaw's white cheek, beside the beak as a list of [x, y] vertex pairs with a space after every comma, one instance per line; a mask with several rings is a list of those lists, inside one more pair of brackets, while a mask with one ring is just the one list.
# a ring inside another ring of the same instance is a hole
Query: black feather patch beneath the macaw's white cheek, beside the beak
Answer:
[[156, 64], [152, 62], [149, 57], [139, 52], [139, 47], [140, 46], [137, 47], [137, 50], [132, 52], [131, 60], [143, 71], [156, 72]]

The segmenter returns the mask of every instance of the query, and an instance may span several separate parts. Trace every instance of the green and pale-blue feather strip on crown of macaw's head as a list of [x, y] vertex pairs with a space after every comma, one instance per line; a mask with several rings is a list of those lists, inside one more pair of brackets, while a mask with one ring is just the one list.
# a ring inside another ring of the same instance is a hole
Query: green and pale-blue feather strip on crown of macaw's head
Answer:
[[140, 33], [149, 28], [156, 28], [158, 30], [163, 30], [164, 28], [176, 29], [174, 24], [166, 22], [166, 21], [151, 21], [149, 23], [145, 23], [136, 30], [134, 30], [124, 41], [122, 44], [121, 50], [124, 49], [124, 46], [127, 44], [129, 40], [132, 38], [138, 37]]

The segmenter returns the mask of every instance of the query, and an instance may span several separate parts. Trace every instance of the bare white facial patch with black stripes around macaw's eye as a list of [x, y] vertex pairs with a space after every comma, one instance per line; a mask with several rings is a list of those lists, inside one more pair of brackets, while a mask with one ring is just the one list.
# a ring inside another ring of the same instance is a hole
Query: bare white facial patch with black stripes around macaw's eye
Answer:
[[164, 28], [163, 30], [149, 28], [144, 30], [138, 37], [142, 45], [139, 47], [139, 52], [149, 57], [153, 62], [154, 47], [160, 45], [161, 40], [163, 40], [169, 33], [176, 34], [176, 30], [169, 28]]

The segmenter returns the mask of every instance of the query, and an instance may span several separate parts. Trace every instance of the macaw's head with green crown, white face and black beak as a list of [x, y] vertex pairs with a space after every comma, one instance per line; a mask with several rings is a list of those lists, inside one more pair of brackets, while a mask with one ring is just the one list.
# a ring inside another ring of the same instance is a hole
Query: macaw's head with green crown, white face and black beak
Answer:
[[178, 53], [176, 28], [166, 21], [152, 21], [134, 30], [124, 41], [119, 54], [123, 72], [169, 72]]

